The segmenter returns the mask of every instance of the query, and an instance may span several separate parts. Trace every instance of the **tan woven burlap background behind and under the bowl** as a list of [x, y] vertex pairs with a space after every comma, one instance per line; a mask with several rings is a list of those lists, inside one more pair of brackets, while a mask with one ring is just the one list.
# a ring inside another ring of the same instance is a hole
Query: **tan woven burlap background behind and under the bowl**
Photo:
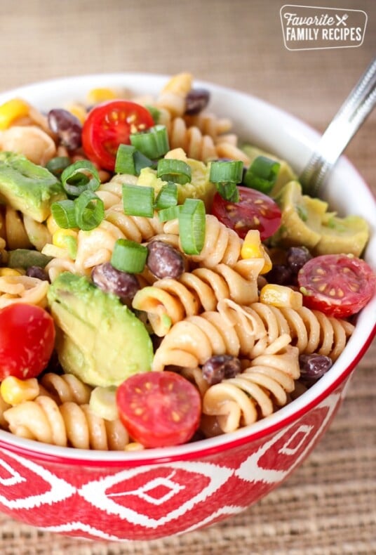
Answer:
[[[362, 9], [358, 48], [288, 51], [273, 0], [0, 0], [0, 90], [92, 72], [195, 77], [260, 96], [323, 131], [376, 52], [375, 0], [305, 4]], [[300, 4], [300, 3], [297, 3]], [[373, 190], [376, 113], [346, 154]], [[0, 515], [4, 555], [376, 554], [375, 344], [309, 460], [243, 514], [165, 541], [88, 543]]]

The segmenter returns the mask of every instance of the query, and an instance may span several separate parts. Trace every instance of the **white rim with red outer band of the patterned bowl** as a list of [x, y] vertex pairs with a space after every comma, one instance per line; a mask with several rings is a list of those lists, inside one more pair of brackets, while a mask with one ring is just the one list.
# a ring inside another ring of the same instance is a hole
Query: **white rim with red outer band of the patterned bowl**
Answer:
[[[146, 84], [148, 86], [152, 85], [150, 93], [156, 93], [168, 79], [170, 79], [170, 76], [168, 75], [145, 72], [90, 73], [71, 75], [69, 77], [58, 77], [55, 79], [46, 79], [44, 81], [35, 81], [32, 84], [18, 86], [15, 89], [4, 91], [0, 93], [0, 103], [3, 103], [10, 98], [14, 98], [15, 96], [21, 96], [26, 100], [30, 100], [33, 105], [37, 105], [37, 103], [32, 102], [32, 100], [35, 96], [43, 97], [41, 91], [44, 91], [44, 96], [46, 96], [48, 95], [48, 91], [62, 90], [66, 92], [61, 93], [60, 96], [65, 97], [67, 95], [67, 91], [69, 91], [69, 93], [70, 91], [77, 89], [81, 89], [81, 91], [88, 91], [94, 86], [100, 86], [100, 83], [107, 84], [107, 86], [129, 86], [130, 89], [133, 89], [138, 93], [138, 89], [140, 89], [140, 82], [142, 82], [142, 86], [145, 86]], [[250, 103], [254, 107], [257, 107], [257, 109], [263, 111], [267, 110], [267, 112], [270, 112], [272, 115], [278, 117], [278, 119], [284, 122], [284, 124], [291, 126], [293, 132], [299, 135], [300, 141], [304, 143], [304, 146], [308, 150], [312, 150], [314, 148], [315, 143], [317, 143], [320, 137], [317, 131], [315, 131], [308, 124], [304, 123], [301, 119], [298, 119], [294, 115], [291, 115], [276, 105], [272, 105], [266, 100], [257, 98], [252, 94], [199, 79], [194, 79], [194, 84], [196, 86], [206, 87], [211, 91], [212, 96], [220, 96], [222, 100], [223, 98], [231, 96], [233, 99], [236, 98], [239, 101]], [[149, 89], [145, 89], [145, 92], [143, 92], [146, 93], [148, 90]], [[225, 114], [224, 117], [226, 117]], [[365, 183], [362, 176], [344, 156], [341, 157], [338, 165], [343, 171], [349, 172], [350, 175], [352, 174], [354, 179], [361, 183], [364, 190], [368, 190], [371, 209], [376, 214], [375, 200], [368, 184]], [[337, 169], [335, 169], [333, 173], [336, 171]], [[375, 243], [376, 237], [374, 237], [372, 241], [372, 244]], [[251, 441], [254, 442], [266, 439], [271, 435], [271, 433], [280, 431], [293, 422], [296, 422], [297, 419], [300, 419], [300, 417], [307, 414], [310, 410], [314, 409], [314, 407], [319, 405], [325, 398], [330, 396], [331, 393], [335, 392], [335, 390], [349, 377], [359, 360], [361, 360], [365, 352], [368, 350], [376, 335], [375, 315], [376, 296], [375, 299], [370, 301], [368, 306], [362, 311], [362, 321], [367, 322], [370, 320], [371, 325], [369, 326], [369, 329], [368, 325], [366, 326], [367, 334], [365, 337], [362, 337], [362, 339], [357, 337], [356, 344], [354, 344], [353, 348], [354, 355], [351, 360], [344, 363], [344, 358], [340, 355], [335, 363], [337, 370], [335, 373], [332, 373], [333, 377], [330, 372], [325, 374], [321, 380], [305, 392], [303, 396], [295, 399], [293, 403], [282, 407], [278, 411], [271, 414], [270, 417], [261, 419], [246, 428], [222, 434], [221, 436], [217, 436], [215, 438], [198, 440], [196, 442], [177, 445], [171, 448], [153, 448], [133, 452], [80, 450], [66, 447], [62, 448], [56, 445], [39, 443], [36, 440], [19, 438], [10, 432], [0, 430], [0, 448], [14, 452], [18, 455], [34, 457], [39, 460], [43, 460], [44, 462], [79, 466], [85, 464], [85, 466], [93, 467], [121, 466], [124, 468], [135, 465], [145, 466], [149, 464], [154, 465], [208, 457], [232, 448], [241, 447]], [[372, 321], [375, 322], [373, 325]], [[348, 345], [351, 341], [353, 341], [353, 337], [349, 339]], [[357, 350], [356, 347], [358, 347]], [[349, 351], [349, 348], [347, 347], [345, 351]], [[304, 400], [304, 403], [302, 399]]]

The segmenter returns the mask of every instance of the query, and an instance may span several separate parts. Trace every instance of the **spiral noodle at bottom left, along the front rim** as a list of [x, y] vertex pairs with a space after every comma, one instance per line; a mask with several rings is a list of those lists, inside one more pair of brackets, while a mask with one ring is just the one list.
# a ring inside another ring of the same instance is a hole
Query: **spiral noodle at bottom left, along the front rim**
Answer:
[[51, 445], [123, 450], [130, 443], [119, 419], [102, 419], [86, 404], [66, 401], [58, 405], [51, 397], [41, 395], [5, 410], [3, 416], [16, 436]]

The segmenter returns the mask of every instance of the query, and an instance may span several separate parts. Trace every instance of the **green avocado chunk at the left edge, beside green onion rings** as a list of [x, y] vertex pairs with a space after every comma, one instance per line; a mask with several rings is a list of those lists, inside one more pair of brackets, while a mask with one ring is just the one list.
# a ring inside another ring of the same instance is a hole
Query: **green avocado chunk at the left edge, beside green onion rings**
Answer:
[[0, 198], [15, 210], [42, 222], [51, 204], [65, 199], [60, 181], [48, 169], [15, 152], [0, 152]]

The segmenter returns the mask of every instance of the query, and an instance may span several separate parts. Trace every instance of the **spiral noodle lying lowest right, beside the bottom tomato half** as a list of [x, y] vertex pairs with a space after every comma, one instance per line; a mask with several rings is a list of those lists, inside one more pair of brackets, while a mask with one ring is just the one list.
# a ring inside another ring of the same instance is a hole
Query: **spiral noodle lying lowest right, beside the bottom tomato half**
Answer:
[[203, 414], [215, 417], [224, 433], [248, 426], [286, 405], [288, 393], [294, 390], [294, 377], [299, 377], [297, 347], [269, 346], [269, 351], [253, 359], [244, 372], [210, 386], [203, 395]]

